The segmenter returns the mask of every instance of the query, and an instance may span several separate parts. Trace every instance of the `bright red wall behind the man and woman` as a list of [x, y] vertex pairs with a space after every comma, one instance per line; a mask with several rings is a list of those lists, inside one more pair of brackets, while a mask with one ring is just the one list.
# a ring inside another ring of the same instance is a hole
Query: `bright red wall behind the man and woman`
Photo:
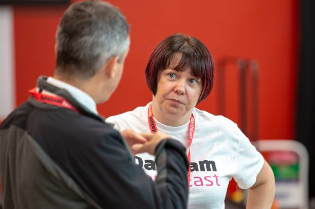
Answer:
[[[171, 33], [195, 36], [213, 57], [240, 56], [259, 63], [259, 138], [295, 137], [298, 11], [294, 0], [113, 0], [131, 25], [131, 48], [121, 83], [100, 105], [104, 116], [144, 106], [151, 100], [144, 68], [157, 43]], [[17, 105], [39, 75], [54, 69], [54, 34], [66, 7], [14, 7]], [[198, 107], [217, 114], [214, 86]], [[228, 97], [235, 97], [230, 93]], [[237, 96], [236, 96], [237, 99]], [[228, 107], [233, 109], [233, 102]], [[239, 116], [229, 115], [238, 122]]]

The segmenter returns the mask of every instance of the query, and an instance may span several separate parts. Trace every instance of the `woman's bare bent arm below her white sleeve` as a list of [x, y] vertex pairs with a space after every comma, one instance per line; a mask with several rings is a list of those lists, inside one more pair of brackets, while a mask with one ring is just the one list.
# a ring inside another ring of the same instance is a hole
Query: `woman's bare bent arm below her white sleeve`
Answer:
[[246, 208], [269, 209], [275, 196], [275, 180], [271, 167], [265, 161], [256, 183], [248, 189]]

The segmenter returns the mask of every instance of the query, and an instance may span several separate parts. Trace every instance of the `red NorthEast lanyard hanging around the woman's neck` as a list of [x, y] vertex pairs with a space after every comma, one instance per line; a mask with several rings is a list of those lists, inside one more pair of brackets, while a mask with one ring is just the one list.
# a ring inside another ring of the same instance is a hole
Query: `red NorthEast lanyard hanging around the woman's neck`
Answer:
[[[155, 125], [155, 121], [153, 118], [153, 112], [152, 112], [152, 104], [150, 104], [149, 108], [148, 108], [148, 123], [149, 123], [149, 127], [151, 130], [151, 133], [154, 133], [155, 131], [157, 131], [157, 127]], [[195, 117], [192, 114], [191, 118], [190, 118], [190, 122], [189, 122], [189, 131], [188, 131], [188, 138], [189, 138], [189, 147], [188, 147], [188, 162], [189, 162], [189, 166], [188, 166], [188, 172], [187, 172], [187, 181], [188, 181], [188, 186], [191, 180], [191, 145], [193, 142], [193, 137], [194, 137], [194, 133], [195, 133]]]

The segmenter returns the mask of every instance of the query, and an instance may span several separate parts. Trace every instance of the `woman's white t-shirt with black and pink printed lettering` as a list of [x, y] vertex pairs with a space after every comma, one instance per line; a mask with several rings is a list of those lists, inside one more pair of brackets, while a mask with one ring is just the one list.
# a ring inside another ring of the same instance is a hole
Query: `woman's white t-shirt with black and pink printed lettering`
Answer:
[[[106, 119], [114, 128], [136, 132], [150, 132], [148, 107]], [[223, 116], [214, 116], [194, 108], [195, 134], [191, 145], [191, 180], [188, 208], [225, 208], [224, 200], [229, 181], [234, 178], [238, 186], [248, 189], [256, 182], [263, 167], [263, 156], [250, 144], [237, 125]], [[166, 126], [155, 119], [157, 130], [171, 135], [188, 147], [188, 123], [179, 127]], [[188, 151], [188, 149], [186, 149]], [[135, 158], [147, 175], [156, 177], [154, 156], [138, 154]]]

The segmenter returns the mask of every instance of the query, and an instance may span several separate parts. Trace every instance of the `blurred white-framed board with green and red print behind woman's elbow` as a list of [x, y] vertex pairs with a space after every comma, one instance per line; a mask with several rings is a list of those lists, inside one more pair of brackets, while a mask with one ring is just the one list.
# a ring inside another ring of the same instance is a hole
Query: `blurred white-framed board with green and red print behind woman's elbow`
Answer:
[[258, 140], [256, 148], [271, 166], [278, 208], [308, 208], [308, 153], [294, 140]]

